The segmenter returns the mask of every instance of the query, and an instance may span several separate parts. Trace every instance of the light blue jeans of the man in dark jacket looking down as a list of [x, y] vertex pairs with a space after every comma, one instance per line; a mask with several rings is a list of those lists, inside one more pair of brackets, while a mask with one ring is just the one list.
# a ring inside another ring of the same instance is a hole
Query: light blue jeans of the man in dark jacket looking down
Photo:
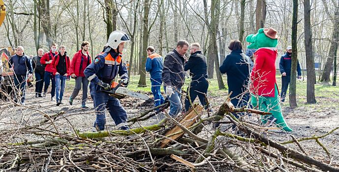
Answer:
[[167, 97], [167, 99], [170, 102], [169, 115], [173, 117], [178, 115], [183, 109], [183, 105], [181, 104], [181, 88], [180, 89], [173, 88], [173, 94], [171, 95], [171, 97]]

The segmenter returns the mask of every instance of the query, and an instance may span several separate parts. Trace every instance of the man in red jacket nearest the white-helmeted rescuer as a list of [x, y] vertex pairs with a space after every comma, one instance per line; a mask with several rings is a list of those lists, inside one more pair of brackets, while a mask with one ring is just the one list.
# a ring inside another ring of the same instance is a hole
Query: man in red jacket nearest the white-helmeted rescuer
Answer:
[[69, 104], [73, 105], [73, 100], [78, 95], [82, 85], [81, 107], [86, 109], [88, 108], [88, 106], [86, 106], [86, 100], [89, 81], [84, 75], [84, 70], [91, 64], [91, 57], [88, 52], [89, 48], [90, 43], [88, 41], [82, 42], [81, 50], [74, 54], [69, 68], [71, 77], [75, 79], [75, 87], [72, 95], [69, 97]]

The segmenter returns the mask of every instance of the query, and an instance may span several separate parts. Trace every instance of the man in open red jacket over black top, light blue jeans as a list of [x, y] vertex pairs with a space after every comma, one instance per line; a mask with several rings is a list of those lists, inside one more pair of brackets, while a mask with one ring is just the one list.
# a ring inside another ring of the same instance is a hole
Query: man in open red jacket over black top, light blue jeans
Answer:
[[52, 61], [56, 83], [57, 106], [62, 103], [63, 91], [65, 90], [66, 79], [69, 74], [69, 57], [66, 54], [65, 46], [61, 45], [59, 47], [59, 54], [55, 55]]

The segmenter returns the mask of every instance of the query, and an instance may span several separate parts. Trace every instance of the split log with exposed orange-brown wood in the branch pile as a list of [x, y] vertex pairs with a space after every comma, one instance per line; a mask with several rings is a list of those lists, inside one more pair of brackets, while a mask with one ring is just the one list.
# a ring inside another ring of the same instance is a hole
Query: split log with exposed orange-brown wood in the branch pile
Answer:
[[[202, 112], [202, 109], [203, 109], [202, 106], [198, 105], [198, 106], [193, 106], [193, 107], [195, 108], [196, 112], [198, 112], [198, 114]], [[184, 114], [183, 119], [180, 120], [179, 123], [182, 124], [182, 126], [184, 126], [185, 128], [189, 128], [190, 126], [194, 125], [198, 121], [197, 117], [198, 115], [195, 113], [195, 111], [192, 108], [190, 108], [188, 112]], [[167, 136], [172, 135], [173, 133], [177, 133], [180, 131], [183, 131], [183, 130], [175, 125], [172, 129], [167, 131], [164, 136], [167, 137]], [[182, 132], [182, 133], [178, 133], [176, 135], [168, 137], [169, 139], [164, 139], [163, 141], [161, 141], [160, 147], [161, 148], [165, 147], [172, 140], [177, 140], [181, 138], [184, 134], [185, 132]]]

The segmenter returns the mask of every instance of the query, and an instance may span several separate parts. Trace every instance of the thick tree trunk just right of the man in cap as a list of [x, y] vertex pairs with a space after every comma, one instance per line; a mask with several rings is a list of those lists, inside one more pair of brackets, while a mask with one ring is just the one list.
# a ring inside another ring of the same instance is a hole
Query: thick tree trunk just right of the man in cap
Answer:
[[307, 103], [316, 103], [314, 95], [315, 70], [314, 53], [312, 46], [312, 30], [310, 21], [309, 0], [304, 0], [304, 19], [305, 19], [305, 51], [306, 51], [306, 69], [307, 69]]

